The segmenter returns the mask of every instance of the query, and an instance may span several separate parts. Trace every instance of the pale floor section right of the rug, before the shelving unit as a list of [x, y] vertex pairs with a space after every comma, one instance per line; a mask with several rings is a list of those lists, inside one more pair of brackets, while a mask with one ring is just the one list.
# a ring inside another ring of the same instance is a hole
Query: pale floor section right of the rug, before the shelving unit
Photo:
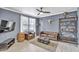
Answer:
[[64, 42], [58, 42], [58, 46], [56, 49], [56, 52], [78, 52], [78, 51], [79, 51], [79, 45]]

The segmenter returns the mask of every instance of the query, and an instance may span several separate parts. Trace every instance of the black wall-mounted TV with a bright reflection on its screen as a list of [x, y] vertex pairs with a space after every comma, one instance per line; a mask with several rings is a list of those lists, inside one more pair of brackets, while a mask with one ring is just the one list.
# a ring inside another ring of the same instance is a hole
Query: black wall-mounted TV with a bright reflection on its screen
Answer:
[[10, 32], [13, 31], [14, 29], [15, 29], [15, 22], [0, 20], [0, 33]]

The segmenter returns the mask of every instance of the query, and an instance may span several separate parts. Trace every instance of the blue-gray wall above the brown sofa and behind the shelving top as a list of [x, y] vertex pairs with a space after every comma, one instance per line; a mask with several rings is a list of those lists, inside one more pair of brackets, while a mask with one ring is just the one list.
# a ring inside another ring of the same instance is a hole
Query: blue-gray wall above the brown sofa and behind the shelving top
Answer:
[[[77, 16], [77, 12], [70, 12], [69, 16]], [[59, 32], [59, 18], [63, 18], [63, 14], [48, 16], [40, 19], [40, 31]], [[48, 20], [52, 20], [52, 24], [48, 23]]]

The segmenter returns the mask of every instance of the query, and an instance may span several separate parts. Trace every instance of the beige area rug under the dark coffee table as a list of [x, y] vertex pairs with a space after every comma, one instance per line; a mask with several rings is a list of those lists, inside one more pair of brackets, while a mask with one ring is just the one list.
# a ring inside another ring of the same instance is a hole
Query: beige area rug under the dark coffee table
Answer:
[[58, 45], [58, 43], [54, 43], [52, 41], [48, 45], [46, 45], [44, 43], [38, 42], [37, 39], [33, 39], [33, 40], [29, 41], [29, 42], [36, 45], [36, 46], [39, 46], [39, 47], [41, 47], [43, 49], [46, 49], [46, 50], [48, 50], [50, 52], [55, 52], [56, 48], [57, 48], [57, 45]]

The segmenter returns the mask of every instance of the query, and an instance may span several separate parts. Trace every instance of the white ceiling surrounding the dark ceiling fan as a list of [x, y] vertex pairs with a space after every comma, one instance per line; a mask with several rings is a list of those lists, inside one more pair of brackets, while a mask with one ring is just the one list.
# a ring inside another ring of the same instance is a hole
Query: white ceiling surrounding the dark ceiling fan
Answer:
[[60, 14], [63, 12], [71, 12], [77, 10], [77, 7], [43, 7], [43, 10], [50, 11], [51, 13], [37, 15], [39, 12], [36, 9], [39, 9], [40, 7], [7, 7], [7, 8], [22, 12], [24, 14], [32, 15], [35, 17], [46, 17], [50, 15]]

